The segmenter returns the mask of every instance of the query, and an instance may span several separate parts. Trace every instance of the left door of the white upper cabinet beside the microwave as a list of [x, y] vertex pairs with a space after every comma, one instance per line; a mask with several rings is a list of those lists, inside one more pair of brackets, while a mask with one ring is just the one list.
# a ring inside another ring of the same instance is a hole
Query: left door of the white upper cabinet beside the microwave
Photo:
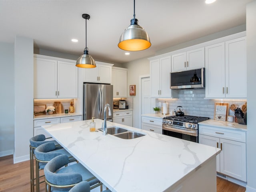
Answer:
[[160, 60], [150, 61], [151, 97], [160, 96]]

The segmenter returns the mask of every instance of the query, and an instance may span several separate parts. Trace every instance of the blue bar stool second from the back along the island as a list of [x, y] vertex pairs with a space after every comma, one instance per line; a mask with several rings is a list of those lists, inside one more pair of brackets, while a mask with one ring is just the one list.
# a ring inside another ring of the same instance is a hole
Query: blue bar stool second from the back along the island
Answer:
[[44, 166], [52, 160], [54, 157], [59, 155], [67, 155], [70, 162], [75, 161], [75, 159], [70, 155], [65, 149], [58, 149], [56, 150], [56, 146], [54, 142], [46, 142], [40, 146], [38, 146], [35, 151], [35, 160], [36, 160], [36, 191], [40, 192], [40, 170], [44, 169]]

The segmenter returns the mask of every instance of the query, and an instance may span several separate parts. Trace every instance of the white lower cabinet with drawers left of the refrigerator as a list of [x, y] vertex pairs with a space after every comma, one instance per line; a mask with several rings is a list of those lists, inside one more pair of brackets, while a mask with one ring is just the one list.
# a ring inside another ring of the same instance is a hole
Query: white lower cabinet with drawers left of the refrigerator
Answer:
[[66, 123], [72, 121], [82, 121], [82, 115], [34, 120], [34, 136], [43, 134], [46, 138], [50, 137], [50, 135], [41, 127], [42, 125]]

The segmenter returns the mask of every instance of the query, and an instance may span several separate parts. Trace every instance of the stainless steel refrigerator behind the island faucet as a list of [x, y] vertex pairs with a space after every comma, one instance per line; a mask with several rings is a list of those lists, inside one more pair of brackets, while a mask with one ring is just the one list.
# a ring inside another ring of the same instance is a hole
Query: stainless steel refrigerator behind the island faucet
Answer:
[[108, 121], [113, 118], [113, 85], [84, 83], [84, 120], [104, 119], [104, 107], [111, 106], [111, 116], [106, 111]]

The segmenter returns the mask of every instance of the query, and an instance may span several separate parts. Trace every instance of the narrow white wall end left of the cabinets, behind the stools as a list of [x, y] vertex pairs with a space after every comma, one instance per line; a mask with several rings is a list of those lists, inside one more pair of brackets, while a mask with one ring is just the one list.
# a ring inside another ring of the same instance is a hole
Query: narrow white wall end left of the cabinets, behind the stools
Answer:
[[14, 163], [29, 159], [34, 118], [33, 39], [16, 36], [14, 43]]

